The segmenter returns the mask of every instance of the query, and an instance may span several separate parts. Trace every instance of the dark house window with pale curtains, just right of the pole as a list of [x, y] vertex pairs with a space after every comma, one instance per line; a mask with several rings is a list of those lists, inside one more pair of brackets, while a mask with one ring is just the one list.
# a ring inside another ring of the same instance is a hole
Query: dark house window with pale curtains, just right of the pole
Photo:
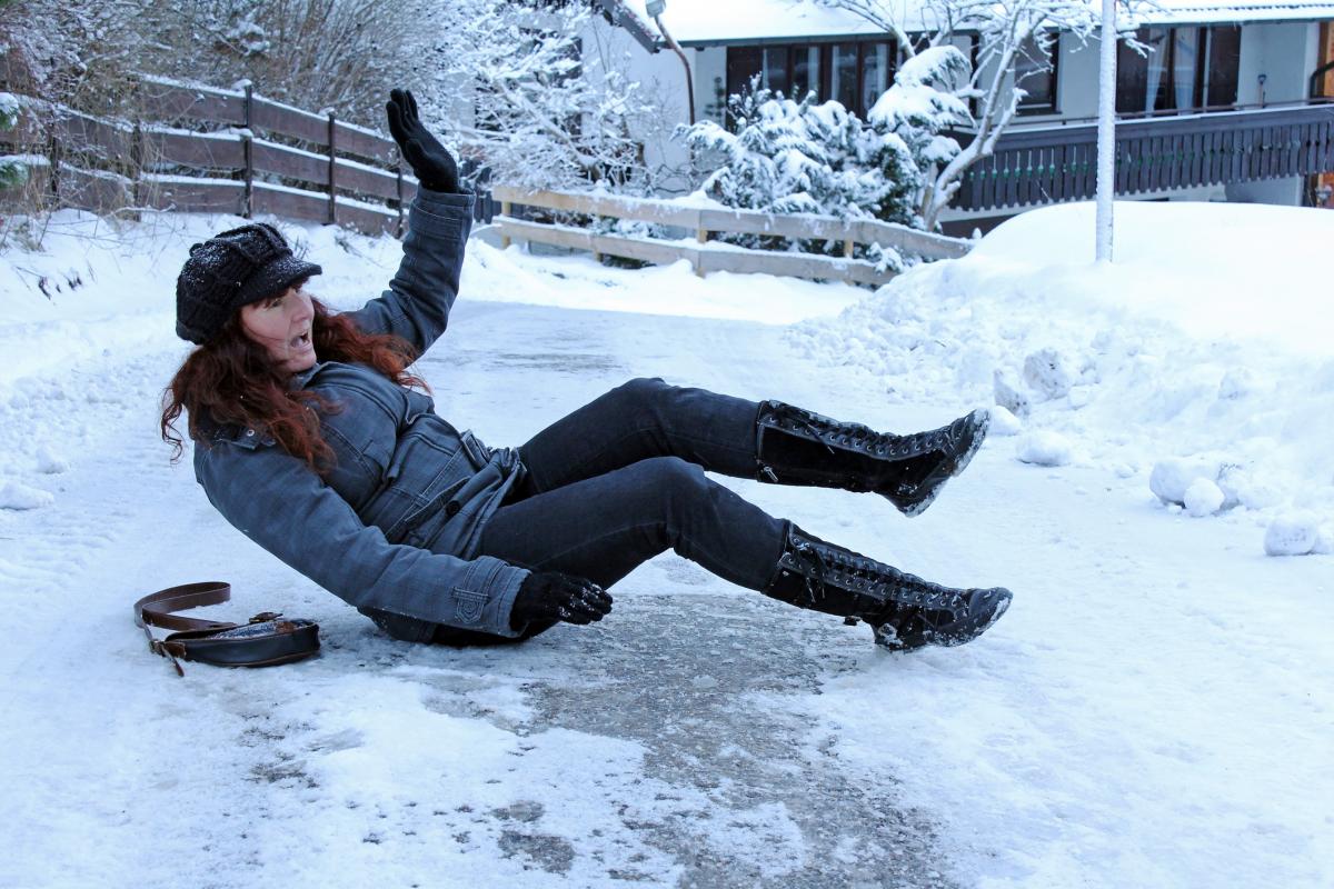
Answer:
[[1117, 48], [1117, 112], [1145, 115], [1237, 104], [1241, 28], [1141, 28], [1141, 56]]

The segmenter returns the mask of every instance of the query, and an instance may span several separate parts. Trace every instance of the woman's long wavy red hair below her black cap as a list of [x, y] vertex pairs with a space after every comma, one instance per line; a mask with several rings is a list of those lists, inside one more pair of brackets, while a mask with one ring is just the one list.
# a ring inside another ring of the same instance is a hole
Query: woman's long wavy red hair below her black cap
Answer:
[[[411, 343], [387, 333], [364, 333], [319, 300], [311, 304], [311, 343], [320, 361], [364, 364], [399, 385], [427, 388], [406, 369], [416, 360]], [[289, 380], [291, 373], [280, 371], [268, 351], [245, 336], [237, 311], [215, 337], [189, 353], [163, 392], [161, 436], [173, 448], [172, 461], [180, 460], [184, 450], [176, 420], [187, 411], [188, 435], [195, 441], [205, 441], [219, 425], [263, 429], [311, 469], [331, 469], [334, 450], [320, 435], [319, 413], [312, 408], [328, 412], [338, 411], [338, 405], [313, 392], [289, 389]]]

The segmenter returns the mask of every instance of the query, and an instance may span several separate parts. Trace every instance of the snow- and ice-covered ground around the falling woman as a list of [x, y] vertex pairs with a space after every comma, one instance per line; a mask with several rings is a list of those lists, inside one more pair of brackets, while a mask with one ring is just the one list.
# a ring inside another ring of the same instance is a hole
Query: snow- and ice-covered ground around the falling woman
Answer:
[[[1317, 217], [1281, 231], [1323, 237]], [[1334, 423], [1330, 356], [1282, 331], [1182, 327], [1231, 291], [1177, 293], [1175, 319], [1106, 303], [1183, 261], [1057, 273], [1019, 263], [1031, 233], [1007, 245], [1003, 227], [835, 317], [867, 295], [475, 241], [420, 369], [491, 444], [632, 376], [896, 431], [990, 403], [992, 371], [1031, 404], [915, 520], [874, 496], [724, 480], [916, 573], [1014, 589], [968, 646], [886, 654], [866, 628], [666, 556], [596, 626], [452, 650], [380, 636], [227, 526], [188, 460], [167, 462], [172, 279], [228, 221], [64, 219], [48, 252], [0, 256], [0, 885], [1334, 882], [1334, 560], [1262, 545], [1291, 510], [1330, 520], [1329, 449], [1309, 441]], [[342, 305], [392, 269], [392, 243], [288, 231]], [[1303, 336], [1329, 323], [1313, 305]], [[1026, 376], [1043, 349], [1057, 357]], [[1221, 387], [1229, 373], [1245, 385]], [[1063, 465], [1017, 457], [1051, 453], [1025, 444], [1039, 435]], [[1218, 458], [1269, 496], [1193, 517], [1150, 489], [1169, 457]], [[233, 584], [213, 609], [232, 617], [319, 620], [320, 657], [177, 678], [129, 604], [203, 578]]]

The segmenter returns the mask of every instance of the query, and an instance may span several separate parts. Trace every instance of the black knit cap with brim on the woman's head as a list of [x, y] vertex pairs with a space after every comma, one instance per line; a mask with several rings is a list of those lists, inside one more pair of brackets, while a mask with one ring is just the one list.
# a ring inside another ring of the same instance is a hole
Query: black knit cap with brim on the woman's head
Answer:
[[323, 272], [292, 256], [276, 228], [252, 223], [189, 248], [176, 279], [176, 336], [205, 343], [232, 312]]

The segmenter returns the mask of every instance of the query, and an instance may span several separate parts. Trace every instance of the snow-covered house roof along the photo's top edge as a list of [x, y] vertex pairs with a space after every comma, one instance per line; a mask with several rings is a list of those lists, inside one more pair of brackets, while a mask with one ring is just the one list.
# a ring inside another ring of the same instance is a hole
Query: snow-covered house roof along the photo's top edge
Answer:
[[[624, 7], [656, 33], [646, 0], [622, 0]], [[886, 0], [900, 9], [908, 31], [923, 31], [916, 0]], [[1334, 0], [1157, 0], [1135, 16], [1141, 24], [1210, 24], [1223, 21], [1318, 21], [1334, 19]], [[690, 45], [840, 37], [882, 33], [860, 16], [827, 9], [811, 0], [667, 0], [662, 23], [678, 43]]]

